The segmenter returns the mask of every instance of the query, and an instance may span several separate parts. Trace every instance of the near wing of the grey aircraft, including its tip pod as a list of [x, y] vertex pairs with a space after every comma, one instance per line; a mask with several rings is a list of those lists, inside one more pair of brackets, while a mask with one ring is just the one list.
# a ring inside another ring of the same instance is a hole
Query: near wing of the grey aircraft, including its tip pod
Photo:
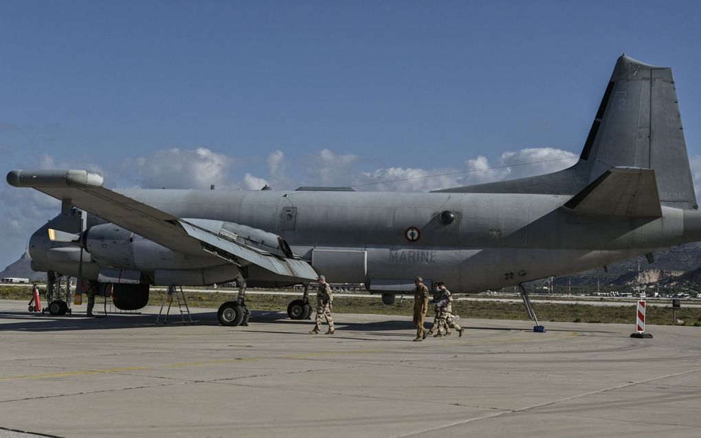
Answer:
[[201, 226], [140, 203], [102, 186], [102, 175], [86, 170], [13, 170], [7, 182], [31, 187], [95, 214], [153, 242], [186, 254], [215, 254], [238, 266], [254, 264], [278, 275], [316, 280], [317, 273], [299, 259], [276, 256], [224, 239]]

